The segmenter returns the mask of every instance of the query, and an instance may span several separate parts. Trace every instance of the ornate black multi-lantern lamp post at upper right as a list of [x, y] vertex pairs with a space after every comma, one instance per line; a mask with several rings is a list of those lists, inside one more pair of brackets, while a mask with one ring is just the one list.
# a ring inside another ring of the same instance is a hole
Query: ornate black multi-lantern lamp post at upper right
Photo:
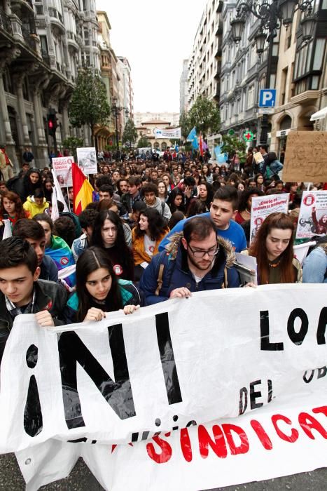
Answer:
[[[307, 43], [313, 35], [316, 18], [312, 15], [313, 0], [272, 0], [268, 3], [266, 0], [253, 0], [249, 3], [242, 2], [236, 9], [236, 18], [230, 22], [232, 29], [232, 39], [238, 44], [242, 39], [246, 15], [253, 14], [260, 19], [260, 28], [258, 34], [254, 37], [256, 40], [256, 51], [262, 55], [265, 51], [265, 42], [268, 43], [267, 52], [267, 71], [265, 76], [265, 88], [270, 88], [270, 76], [272, 69], [272, 48], [274, 37], [277, 36], [277, 29], [283, 24], [286, 29], [293, 22], [296, 11], [305, 13], [302, 20], [302, 42]], [[263, 114], [261, 123], [260, 143], [267, 143], [268, 136], [268, 116]]]

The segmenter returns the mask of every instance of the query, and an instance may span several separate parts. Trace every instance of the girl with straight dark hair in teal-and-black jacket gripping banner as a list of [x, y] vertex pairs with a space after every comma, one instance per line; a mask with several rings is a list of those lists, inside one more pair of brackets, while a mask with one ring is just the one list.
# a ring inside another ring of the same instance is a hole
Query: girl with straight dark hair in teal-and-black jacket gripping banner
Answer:
[[113, 264], [101, 248], [90, 247], [78, 257], [76, 292], [64, 309], [65, 323], [101, 321], [106, 312], [123, 309], [132, 314], [141, 299], [132, 281], [120, 280]]

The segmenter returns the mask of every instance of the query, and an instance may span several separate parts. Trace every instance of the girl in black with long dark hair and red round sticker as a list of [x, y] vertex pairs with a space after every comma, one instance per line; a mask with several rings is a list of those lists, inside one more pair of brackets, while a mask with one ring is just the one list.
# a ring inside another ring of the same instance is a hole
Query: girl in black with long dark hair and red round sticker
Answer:
[[123, 224], [116, 213], [110, 210], [99, 213], [95, 219], [91, 243], [105, 250], [113, 263], [116, 276], [125, 280], [134, 280], [132, 250], [127, 246]]

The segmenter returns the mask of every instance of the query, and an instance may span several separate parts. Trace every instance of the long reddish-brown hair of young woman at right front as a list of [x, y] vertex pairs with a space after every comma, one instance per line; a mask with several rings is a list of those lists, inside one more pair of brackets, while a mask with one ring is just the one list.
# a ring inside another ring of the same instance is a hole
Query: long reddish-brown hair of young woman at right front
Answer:
[[[288, 217], [286, 213], [271, 213], [265, 218], [258, 230], [256, 238], [249, 248], [249, 255], [256, 257], [258, 263], [258, 276], [261, 285], [265, 285], [269, 281], [270, 266], [265, 240], [271, 229], [290, 229], [293, 232], [294, 225], [291, 218]], [[288, 246], [284, 250], [284, 253], [281, 254], [281, 283], [294, 283], [295, 281], [293, 257], [293, 237], [291, 236]]]

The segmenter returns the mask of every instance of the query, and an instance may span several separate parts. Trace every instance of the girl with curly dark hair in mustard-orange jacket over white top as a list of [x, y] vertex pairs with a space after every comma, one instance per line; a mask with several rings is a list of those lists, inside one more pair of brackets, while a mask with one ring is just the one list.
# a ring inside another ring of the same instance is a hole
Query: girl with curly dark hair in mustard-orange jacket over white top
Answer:
[[141, 211], [137, 227], [132, 229], [132, 248], [137, 281], [141, 279], [144, 268], [151, 262], [153, 255], [158, 254], [159, 244], [168, 232], [169, 228], [158, 210], [146, 208]]

